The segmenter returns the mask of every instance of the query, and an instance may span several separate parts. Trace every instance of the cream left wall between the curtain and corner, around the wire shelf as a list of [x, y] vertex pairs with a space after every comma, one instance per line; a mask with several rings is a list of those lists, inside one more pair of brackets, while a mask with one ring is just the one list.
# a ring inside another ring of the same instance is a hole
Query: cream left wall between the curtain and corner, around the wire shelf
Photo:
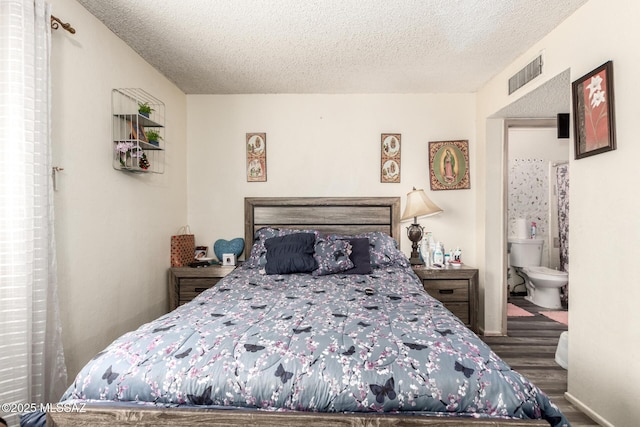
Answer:
[[[169, 236], [187, 218], [186, 97], [74, 0], [53, 14], [54, 165], [62, 338], [72, 381], [122, 333], [168, 307]], [[166, 172], [112, 168], [111, 90], [137, 87], [166, 104]]]

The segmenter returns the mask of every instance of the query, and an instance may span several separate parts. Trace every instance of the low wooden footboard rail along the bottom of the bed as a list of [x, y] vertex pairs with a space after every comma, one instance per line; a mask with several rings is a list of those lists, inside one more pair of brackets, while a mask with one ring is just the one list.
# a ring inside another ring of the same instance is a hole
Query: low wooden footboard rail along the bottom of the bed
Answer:
[[114, 426], [267, 426], [267, 427], [383, 427], [383, 426], [548, 426], [544, 420], [443, 418], [396, 414], [322, 414], [187, 408], [91, 407], [84, 412], [51, 412], [47, 427]]

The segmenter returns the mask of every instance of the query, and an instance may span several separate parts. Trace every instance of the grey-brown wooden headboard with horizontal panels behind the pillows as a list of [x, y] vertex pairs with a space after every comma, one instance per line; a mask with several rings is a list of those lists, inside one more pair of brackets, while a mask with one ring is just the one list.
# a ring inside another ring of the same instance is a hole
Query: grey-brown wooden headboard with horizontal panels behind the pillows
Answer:
[[313, 229], [323, 233], [382, 231], [400, 245], [400, 197], [246, 197], [245, 259], [262, 227]]

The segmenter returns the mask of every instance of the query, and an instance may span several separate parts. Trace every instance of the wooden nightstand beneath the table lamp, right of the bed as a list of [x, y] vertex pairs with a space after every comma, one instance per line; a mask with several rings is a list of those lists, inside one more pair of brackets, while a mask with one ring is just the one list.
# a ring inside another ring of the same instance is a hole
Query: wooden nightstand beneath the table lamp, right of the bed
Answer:
[[441, 301], [473, 332], [478, 333], [478, 269], [466, 265], [441, 269], [414, 266], [429, 295]]

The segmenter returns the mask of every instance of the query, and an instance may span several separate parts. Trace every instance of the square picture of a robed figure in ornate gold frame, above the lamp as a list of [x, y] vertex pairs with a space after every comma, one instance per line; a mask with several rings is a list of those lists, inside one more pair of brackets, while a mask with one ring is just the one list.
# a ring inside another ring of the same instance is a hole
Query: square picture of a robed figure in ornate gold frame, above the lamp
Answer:
[[471, 188], [469, 141], [429, 142], [429, 178], [432, 190]]

